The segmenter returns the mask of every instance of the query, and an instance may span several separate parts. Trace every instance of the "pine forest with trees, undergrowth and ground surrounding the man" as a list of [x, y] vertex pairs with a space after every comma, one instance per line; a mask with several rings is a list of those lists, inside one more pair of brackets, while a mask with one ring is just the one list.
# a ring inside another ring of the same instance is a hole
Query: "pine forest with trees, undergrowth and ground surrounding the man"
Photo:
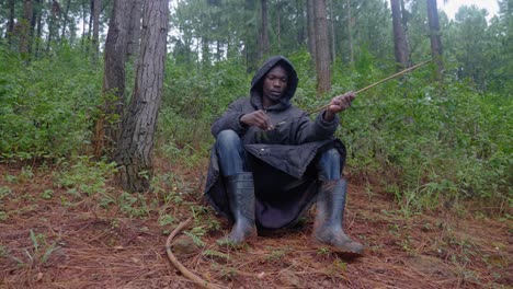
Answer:
[[[0, 0], [0, 288], [511, 288], [513, 0], [451, 2]], [[210, 126], [271, 56], [312, 122], [356, 92], [362, 257], [314, 209], [216, 242]]]

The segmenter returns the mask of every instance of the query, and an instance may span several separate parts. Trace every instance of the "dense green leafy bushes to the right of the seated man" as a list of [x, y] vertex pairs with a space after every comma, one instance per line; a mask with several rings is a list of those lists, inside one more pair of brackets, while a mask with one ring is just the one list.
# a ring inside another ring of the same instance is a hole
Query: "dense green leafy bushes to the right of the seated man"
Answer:
[[350, 170], [376, 175], [413, 209], [511, 201], [512, 101], [461, 83], [440, 88], [422, 73], [362, 94], [343, 113]]

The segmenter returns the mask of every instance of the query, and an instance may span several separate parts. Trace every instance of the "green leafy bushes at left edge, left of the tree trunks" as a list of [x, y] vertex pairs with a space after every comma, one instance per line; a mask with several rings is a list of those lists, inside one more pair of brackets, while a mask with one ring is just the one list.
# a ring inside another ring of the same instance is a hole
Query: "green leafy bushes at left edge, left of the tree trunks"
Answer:
[[0, 161], [83, 152], [100, 103], [101, 73], [80, 51], [25, 65], [0, 50]]

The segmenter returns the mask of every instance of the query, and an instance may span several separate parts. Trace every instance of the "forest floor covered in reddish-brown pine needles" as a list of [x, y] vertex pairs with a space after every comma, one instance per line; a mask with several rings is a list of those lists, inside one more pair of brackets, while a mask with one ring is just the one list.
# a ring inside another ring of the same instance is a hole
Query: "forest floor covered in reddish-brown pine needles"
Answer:
[[[0, 166], [0, 288], [196, 288], [171, 265], [166, 241], [194, 208], [202, 210], [204, 167], [161, 163], [159, 170], [181, 180], [181, 187], [169, 187], [180, 198], [162, 197], [145, 209], [126, 196], [105, 206], [105, 196], [122, 195], [114, 187], [77, 196], [56, 186], [50, 169], [26, 174]], [[472, 204], [410, 213], [387, 194], [350, 181], [345, 231], [366, 245], [363, 257], [316, 247], [312, 210], [297, 230], [259, 235], [240, 248], [216, 243], [229, 224], [207, 212], [206, 222], [220, 229], [208, 230], [202, 246], [181, 233], [175, 255], [221, 288], [513, 288], [509, 216], [489, 217]], [[127, 213], [126, 204], [142, 213]], [[202, 224], [187, 229], [198, 235]], [[189, 246], [180, 248], [180, 240]]]

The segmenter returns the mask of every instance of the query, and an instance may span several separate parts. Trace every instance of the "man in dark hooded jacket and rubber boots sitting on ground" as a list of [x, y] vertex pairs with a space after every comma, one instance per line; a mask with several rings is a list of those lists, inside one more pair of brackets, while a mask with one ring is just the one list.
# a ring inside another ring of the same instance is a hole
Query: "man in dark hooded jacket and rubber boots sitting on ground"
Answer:
[[290, 104], [297, 84], [289, 60], [271, 57], [253, 77], [250, 96], [231, 103], [213, 124], [216, 143], [205, 197], [235, 221], [223, 242], [242, 243], [256, 236], [256, 228], [293, 226], [317, 201], [312, 239], [335, 252], [361, 255], [363, 245], [342, 229], [345, 148], [333, 137], [337, 114], [350, 107], [355, 94], [333, 97], [311, 122]]

